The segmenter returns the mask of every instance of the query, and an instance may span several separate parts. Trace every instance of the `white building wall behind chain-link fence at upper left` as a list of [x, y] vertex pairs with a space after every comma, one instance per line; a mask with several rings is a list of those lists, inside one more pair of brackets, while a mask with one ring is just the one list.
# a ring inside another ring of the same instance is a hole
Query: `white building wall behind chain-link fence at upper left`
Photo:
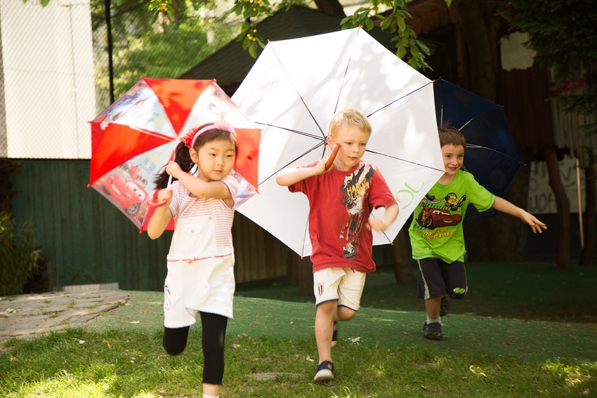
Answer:
[[89, 159], [88, 121], [96, 116], [89, 1], [42, 8], [38, 0], [0, 0], [0, 29], [0, 138], [8, 147], [0, 156]]

